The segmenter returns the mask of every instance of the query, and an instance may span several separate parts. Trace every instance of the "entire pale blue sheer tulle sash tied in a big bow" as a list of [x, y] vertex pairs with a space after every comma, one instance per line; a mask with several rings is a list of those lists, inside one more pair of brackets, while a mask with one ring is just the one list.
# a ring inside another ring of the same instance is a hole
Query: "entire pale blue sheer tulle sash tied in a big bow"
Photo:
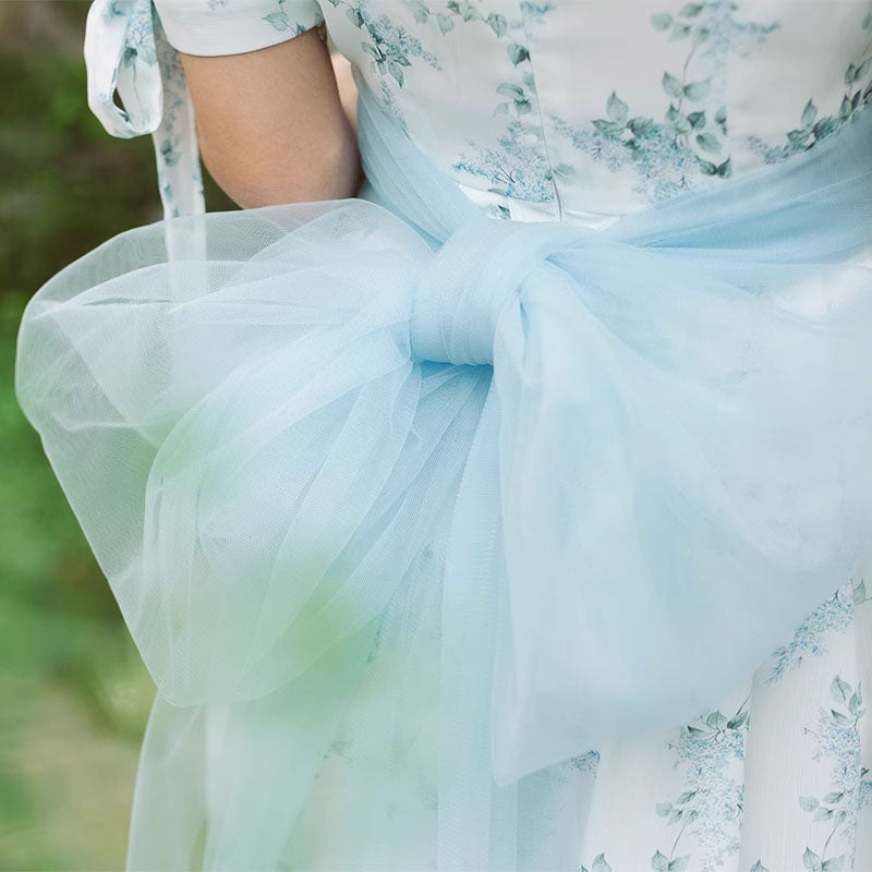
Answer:
[[133, 869], [576, 868], [567, 761], [715, 704], [872, 552], [872, 113], [601, 231], [360, 122], [361, 198], [128, 231], [24, 315], [158, 686]]

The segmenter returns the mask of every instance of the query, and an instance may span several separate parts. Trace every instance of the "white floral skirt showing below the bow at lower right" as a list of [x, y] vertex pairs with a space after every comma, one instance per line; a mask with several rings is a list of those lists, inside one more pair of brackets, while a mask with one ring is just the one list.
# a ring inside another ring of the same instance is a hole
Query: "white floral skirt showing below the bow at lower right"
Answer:
[[719, 708], [601, 749], [582, 869], [871, 868], [870, 639], [848, 582]]

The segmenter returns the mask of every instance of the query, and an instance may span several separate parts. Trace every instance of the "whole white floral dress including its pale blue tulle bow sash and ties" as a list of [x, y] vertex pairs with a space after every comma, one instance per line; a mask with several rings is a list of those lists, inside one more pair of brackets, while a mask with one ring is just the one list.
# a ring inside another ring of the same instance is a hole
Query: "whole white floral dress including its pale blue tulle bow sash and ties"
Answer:
[[[325, 22], [360, 198], [203, 216], [174, 49]], [[158, 685], [130, 868], [872, 868], [872, 4], [96, 0], [86, 59], [167, 221], [17, 386]]]

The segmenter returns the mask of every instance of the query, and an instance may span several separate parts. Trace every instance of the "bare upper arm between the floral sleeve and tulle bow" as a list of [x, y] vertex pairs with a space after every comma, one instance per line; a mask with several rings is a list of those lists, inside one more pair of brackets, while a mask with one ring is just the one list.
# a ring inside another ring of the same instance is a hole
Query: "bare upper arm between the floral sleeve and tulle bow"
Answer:
[[182, 55], [203, 162], [243, 208], [353, 196], [354, 130], [317, 29], [243, 55]]

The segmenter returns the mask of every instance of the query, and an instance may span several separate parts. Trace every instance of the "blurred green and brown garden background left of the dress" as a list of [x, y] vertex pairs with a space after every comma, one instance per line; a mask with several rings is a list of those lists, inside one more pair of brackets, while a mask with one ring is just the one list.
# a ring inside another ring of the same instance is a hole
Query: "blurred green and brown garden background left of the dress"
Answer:
[[[123, 867], [154, 694], [13, 392], [27, 299], [104, 240], [160, 217], [149, 137], [85, 97], [88, 0], [0, 0], [0, 870]], [[207, 180], [210, 209], [230, 208]]]

